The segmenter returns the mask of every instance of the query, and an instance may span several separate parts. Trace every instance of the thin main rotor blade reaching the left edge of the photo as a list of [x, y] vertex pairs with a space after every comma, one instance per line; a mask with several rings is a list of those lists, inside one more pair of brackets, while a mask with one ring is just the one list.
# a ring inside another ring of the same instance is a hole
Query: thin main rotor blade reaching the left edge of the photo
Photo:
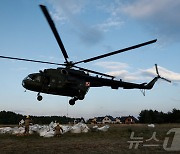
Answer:
[[53, 62], [48, 62], [48, 61], [33, 60], [33, 59], [17, 58], [17, 57], [0, 56], [0, 58], [13, 59], [13, 60], [19, 60], [19, 61], [27, 61], [27, 62], [34, 62], [34, 63], [43, 63], [43, 64], [65, 66], [65, 64], [53, 63]]

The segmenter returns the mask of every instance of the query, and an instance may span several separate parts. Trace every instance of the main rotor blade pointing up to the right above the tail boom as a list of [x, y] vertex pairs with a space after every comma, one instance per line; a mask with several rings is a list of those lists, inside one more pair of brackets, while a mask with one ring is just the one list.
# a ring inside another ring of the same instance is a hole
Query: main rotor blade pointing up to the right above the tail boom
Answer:
[[94, 61], [94, 60], [101, 59], [101, 58], [108, 57], [108, 56], [112, 56], [112, 55], [115, 55], [115, 54], [118, 54], [118, 53], [121, 53], [121, 52], [136, 49], [136, 48], [139, 48], [139, 47], [151, 44], [151, 43], [155, 43], [156, 41], [157, 41], [157, 39], [151, 40], [151, 41], [144, 42], [144, 43], [141, 43], [141, 44], [137, 44], [137, 45], [134, 45], [134, 46], [131, 46], [131, 47], [128, 47], [128, 48], [120, 49], [120, 50], [113, 51], [113, 52], [110, 52], [110, 53], [107, 53], [107, 54], [103, 54], [103, 55], [100, 55], [100, 56], [96, 56], [96, 57], [93, 57], [93, 58], [89, 58], [89, 59], [85, 59], [85, 60], [82, 60], [82, 61], [79, 61], [79, 62], [75, 62], [74, 64], [88, 63], [90, 61]]

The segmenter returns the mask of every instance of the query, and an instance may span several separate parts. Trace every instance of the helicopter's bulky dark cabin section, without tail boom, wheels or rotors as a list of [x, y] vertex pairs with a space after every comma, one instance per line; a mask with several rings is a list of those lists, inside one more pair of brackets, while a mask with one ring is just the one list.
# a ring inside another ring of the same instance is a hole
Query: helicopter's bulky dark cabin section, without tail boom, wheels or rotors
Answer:
[[77, 97], [84, 99], [90, 83], [80, 76], [89, 76], [84, 71], [67, 68], [45, 69], [29, 74], [23, 81], [24, 88], [39, 93]]

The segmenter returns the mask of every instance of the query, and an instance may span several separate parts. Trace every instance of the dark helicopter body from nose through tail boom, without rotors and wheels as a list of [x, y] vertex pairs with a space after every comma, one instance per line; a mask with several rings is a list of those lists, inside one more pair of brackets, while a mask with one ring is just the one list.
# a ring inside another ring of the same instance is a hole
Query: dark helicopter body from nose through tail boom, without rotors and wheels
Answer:
[[81, 70], [72, 68], [45, 69], [39, 73], [29, 74], [23, 81], [24, 88], [39, 93], [74, 97], [76, 100], [83, 100], [90, 87], [107, 86], [112, 89], [119, 87], [124, 89], [151, 89], [157, 79], [150, 84], [136, 84], [90, 76]]

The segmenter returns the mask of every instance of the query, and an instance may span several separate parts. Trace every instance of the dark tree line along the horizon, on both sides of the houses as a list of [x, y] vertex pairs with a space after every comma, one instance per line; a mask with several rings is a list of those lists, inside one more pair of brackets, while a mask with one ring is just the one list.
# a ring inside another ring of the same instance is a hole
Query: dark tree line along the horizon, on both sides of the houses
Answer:
[[[66, 116], [30, 116], [35, 124], [49, 124], [52, 121], [61, 124], [73, 123], [75, 120], [81, 121], [82, 118], [70, 118]], [[0, 111], [0, 124], [18, 124], [26, 116], [11, 111]], [[164, 113], [157, 110], [142, 110], [138, 116], [139, 123], [180, 123], [180, 110], [173, 109]]]

